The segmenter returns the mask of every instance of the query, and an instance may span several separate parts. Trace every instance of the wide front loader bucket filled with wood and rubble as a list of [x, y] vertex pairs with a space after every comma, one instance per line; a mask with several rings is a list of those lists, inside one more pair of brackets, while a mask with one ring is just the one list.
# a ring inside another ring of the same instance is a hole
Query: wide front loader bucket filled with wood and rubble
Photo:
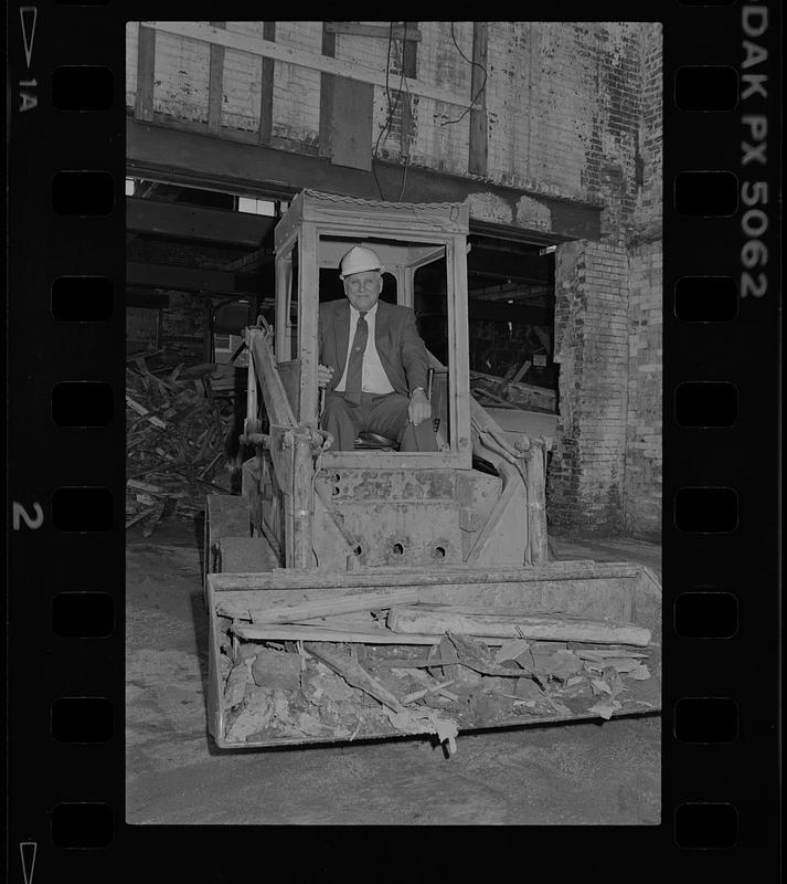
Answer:
[[661, 589], [631, 564], [210, 573], [222, 749], [642, 715], [660, 708]]

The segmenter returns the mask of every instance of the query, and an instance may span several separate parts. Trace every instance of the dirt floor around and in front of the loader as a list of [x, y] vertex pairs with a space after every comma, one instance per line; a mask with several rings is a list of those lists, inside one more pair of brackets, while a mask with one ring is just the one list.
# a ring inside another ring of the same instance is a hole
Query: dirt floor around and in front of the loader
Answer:
[[[659, 716], [428, 739], [220, 753], [206, 734], [199, 526], [128, 532], [129, 823], [658, 824]], [[639, 561], [637, 540], [553, 538], [560, 558]]]

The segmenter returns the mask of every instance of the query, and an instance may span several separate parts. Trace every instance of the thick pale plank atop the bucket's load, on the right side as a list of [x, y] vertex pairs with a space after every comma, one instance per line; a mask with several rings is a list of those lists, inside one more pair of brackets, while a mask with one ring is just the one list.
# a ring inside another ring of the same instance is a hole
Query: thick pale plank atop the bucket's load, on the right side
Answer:
[[414, 632], [419, 635], [456, 632], [461, 635], [497, 635], [504, 639], [634, 644], [638, 648], [647, 648], [650, 642], [650, 630], [632, 623], [554, 614], [511, 617], [480, 611], [462, 613], [429, 608], [392, 608], [387, 624], [393, 632]]

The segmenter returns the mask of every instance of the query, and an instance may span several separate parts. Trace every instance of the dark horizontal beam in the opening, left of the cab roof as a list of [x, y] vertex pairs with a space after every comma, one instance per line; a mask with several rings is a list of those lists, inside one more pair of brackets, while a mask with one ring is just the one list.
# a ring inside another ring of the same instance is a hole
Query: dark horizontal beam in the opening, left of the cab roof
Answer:
[[126, 229], [187, 240], [257, 248], [276, 219], [183, 203], [126, 198]]

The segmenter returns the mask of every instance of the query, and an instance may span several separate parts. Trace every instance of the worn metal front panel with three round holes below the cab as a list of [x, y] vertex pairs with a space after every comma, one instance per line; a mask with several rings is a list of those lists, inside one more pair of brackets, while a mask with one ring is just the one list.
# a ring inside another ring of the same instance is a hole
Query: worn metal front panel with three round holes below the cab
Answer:
[[459, 504], [449, 501], [352, 503], [336, 506], [361, 565], [461, 562]]

